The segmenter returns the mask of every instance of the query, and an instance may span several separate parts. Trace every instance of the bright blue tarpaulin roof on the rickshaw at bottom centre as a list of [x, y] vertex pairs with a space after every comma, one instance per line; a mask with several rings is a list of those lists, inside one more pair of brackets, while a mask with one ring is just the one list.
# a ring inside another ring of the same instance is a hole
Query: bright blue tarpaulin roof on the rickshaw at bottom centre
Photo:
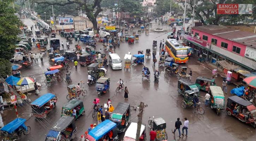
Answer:
[[116, 128], [117, 124], [110, 121], [109, 119], [103, 121], [102, 123], [98, 124], [95, 128], [93, 128], [89, 135], [92, 136], [96, 141], [99, 140], [101, 137], [106, 135], [109, 131]]

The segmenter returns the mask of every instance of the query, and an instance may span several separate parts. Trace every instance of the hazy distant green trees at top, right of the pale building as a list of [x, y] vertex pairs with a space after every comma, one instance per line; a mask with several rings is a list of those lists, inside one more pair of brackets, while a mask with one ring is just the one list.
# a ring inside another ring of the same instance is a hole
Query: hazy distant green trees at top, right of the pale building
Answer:
[[[170, 11], [170, 0], [157, 0], [156, 1], [156, 14], [158, 16], [164, 15], [166, 12]], [[174, 1], [172, 2], [172, 11], [174, 11], [175, 14], [178, 13], [178, 11], [181, 10], [180, 6], [176, 4]]]

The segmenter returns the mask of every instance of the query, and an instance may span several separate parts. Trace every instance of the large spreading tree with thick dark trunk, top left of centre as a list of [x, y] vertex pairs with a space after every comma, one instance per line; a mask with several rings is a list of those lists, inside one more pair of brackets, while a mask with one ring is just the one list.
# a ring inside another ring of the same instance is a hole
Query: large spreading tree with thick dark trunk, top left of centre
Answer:
[[[76, 4], [75, 10], [83, 10], [85, 11], [89, 20], [93, 23], [94, 32], [99, 32], [97, 27], [97, 16], [102, 11], [101, 9], [101, 1], [102, 0], [32, 0], [38, 4], [46, 4], [47, 6], [58, 5], [63, 6]], [[67, 9], [63, 9], [67, 10]]]

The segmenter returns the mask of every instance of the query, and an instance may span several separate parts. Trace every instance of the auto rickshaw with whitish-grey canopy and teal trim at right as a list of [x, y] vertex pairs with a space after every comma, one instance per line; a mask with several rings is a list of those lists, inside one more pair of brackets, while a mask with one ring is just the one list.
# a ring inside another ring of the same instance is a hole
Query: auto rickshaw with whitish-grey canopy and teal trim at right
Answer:
[[212, 109], [215, 109], [217, 112], [217, 115], [220, 114], [220, 110], [224, 109], [225, 104], [225, 96], [224, 93], [219, 86], [210, 86], [210, 92], [209, 92], [211, 98], [210, 98], [210, 106]]

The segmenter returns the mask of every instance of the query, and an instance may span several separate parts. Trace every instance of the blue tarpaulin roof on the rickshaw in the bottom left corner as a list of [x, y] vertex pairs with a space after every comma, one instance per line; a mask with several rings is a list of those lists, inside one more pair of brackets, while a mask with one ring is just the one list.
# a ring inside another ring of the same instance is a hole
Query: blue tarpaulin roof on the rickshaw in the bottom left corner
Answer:
[[25, 125], [26, 119], [24, 118], [16, 118], [10, 123], [6, 124], [1, 131], [6, 131], [7, 133], [11, 134], [14, 130], [18, 129], [20, 126], [24, 127], [25, 130], [28, 130]]

